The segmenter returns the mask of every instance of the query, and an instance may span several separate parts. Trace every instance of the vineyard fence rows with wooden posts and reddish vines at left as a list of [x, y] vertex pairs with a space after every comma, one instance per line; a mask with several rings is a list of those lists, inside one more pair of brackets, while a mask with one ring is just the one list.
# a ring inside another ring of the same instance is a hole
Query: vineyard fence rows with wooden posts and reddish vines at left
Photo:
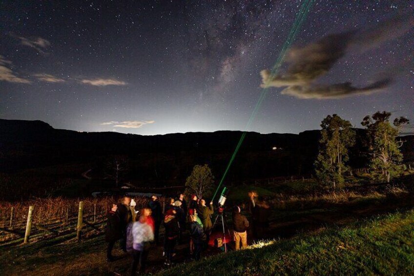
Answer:
[[[136, 210], [148, 204], [148, 198], [134, 198]], [[164, 199], [161, 199], [164, 204]], [[89, 230], [104, 230], [106, 213], [116, 200], [112, 197], [70, 200], [36, 199], [22, 203], [0, 203], [0, 246], [27, 243], [53, 236], [74, 236], [77, 240]]]

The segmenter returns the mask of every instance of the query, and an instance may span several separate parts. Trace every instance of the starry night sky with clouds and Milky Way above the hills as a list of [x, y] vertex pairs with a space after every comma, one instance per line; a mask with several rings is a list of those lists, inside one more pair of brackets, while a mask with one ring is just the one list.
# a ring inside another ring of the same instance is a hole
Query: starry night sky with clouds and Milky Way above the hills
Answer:
[[271, 73], [303, 3], [2, 0], [0, 118], [143, 135], [413, 121], [414, 1], [315, 0]]

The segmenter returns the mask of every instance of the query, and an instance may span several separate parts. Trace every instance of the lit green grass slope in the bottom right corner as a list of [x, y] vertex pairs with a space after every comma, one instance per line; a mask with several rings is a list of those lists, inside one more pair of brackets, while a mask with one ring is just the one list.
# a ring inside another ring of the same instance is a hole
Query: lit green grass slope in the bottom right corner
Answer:
[[343, 229], [263, 241], [247, 250], [179, 265], [159, 275], [413, 275], [414, 212]]

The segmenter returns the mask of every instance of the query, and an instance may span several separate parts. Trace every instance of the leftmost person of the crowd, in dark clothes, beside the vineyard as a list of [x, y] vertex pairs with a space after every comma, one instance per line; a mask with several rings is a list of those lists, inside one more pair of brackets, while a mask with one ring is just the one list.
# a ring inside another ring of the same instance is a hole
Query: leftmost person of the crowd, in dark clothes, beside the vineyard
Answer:
[[106, 227], [105, 227], [105, 241], [108, 243], [106, 248], [106, 261], [111, 262], [114, 260], [112, 256], [112, 249], [117, 240], [122, 237], [121, 233], [121, 218], [116, 212], [118, 207], [116, 204], [110, 205], [110, 210], [106, 214]]

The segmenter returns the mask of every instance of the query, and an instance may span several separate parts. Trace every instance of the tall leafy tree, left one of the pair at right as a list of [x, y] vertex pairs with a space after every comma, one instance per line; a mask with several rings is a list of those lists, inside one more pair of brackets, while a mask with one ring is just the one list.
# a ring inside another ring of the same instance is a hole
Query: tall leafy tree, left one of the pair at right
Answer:
[[328, 115], [321, 124], [319, 154], [315, 161], [316, 176], [333, 190], [337, 184], [344, 183], [343, 173], [349, 169], [348, 148], [355, 143], [355, 131], [349, 121], [336, 114]]

